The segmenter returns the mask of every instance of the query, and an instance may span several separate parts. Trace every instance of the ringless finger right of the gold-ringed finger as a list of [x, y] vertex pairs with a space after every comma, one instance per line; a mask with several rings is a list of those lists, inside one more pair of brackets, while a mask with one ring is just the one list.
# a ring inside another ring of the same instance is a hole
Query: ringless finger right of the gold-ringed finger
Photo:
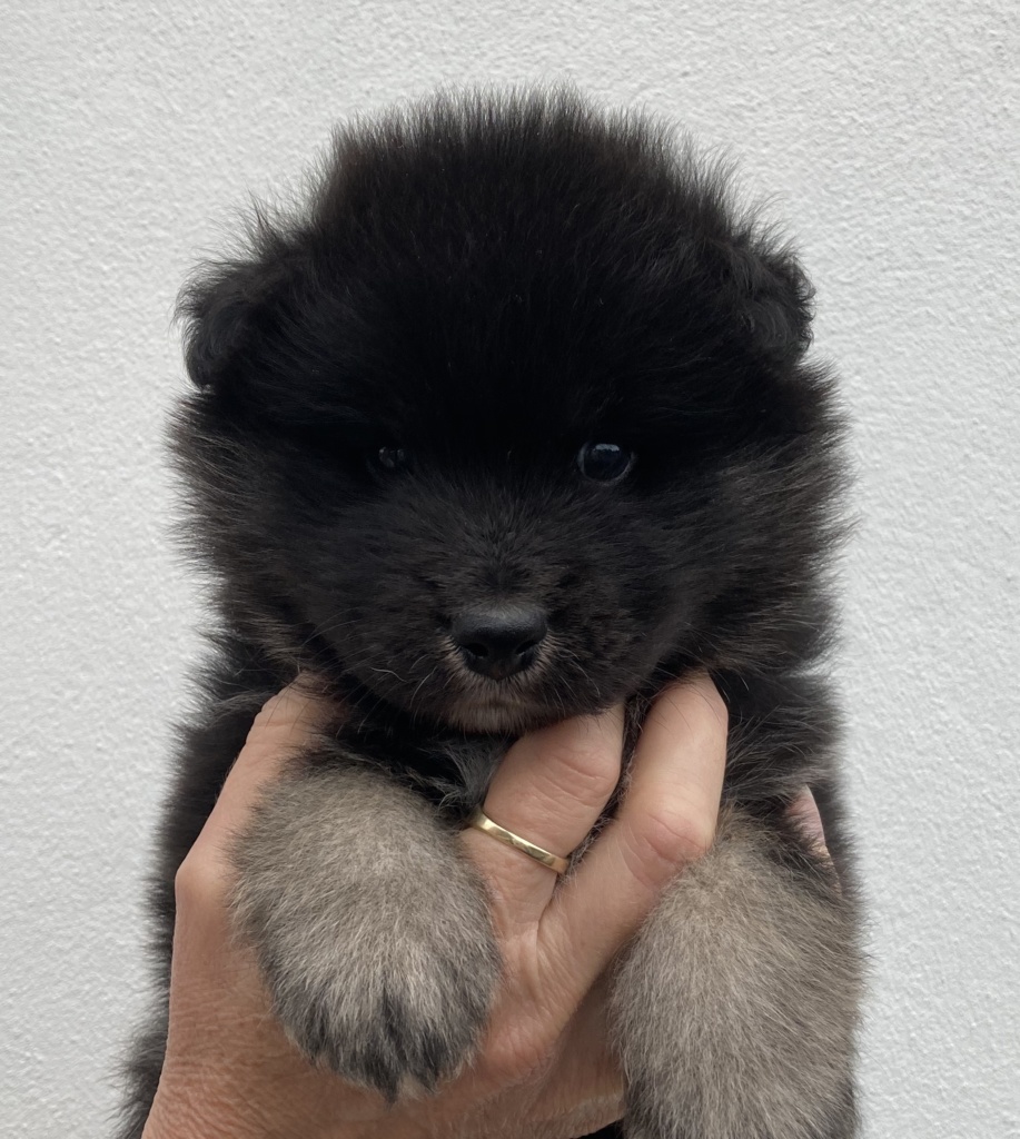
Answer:
[[641, 732], [615, 819], [553, 900], [542, 940], [583, 993], [655, 906], [711, 845], [726, 764], [726, 706], [707, 675], [674, 685]]

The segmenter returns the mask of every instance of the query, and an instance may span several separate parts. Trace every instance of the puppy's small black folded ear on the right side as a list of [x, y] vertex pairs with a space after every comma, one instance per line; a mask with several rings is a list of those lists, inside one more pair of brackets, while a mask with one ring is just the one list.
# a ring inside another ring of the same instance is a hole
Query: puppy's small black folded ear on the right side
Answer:
[[754, 238], [737, 241], [730, 271], [755, 350], [783, 362], [801, 357], [811, 345], [814, 290], [792, 252]]

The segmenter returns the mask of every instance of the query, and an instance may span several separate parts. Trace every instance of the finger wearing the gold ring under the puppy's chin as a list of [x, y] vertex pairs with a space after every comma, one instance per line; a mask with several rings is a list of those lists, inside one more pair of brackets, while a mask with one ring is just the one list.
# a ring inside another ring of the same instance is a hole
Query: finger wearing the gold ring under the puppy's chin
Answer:
[[[524, 736], [500, 764], [483, 811], [543, 850], [570, 854], [619, 781], [623, 726], [617, 707]], [[490, 884], [497, 928], [537, 924], [556, 888], [556, 871], [472, 827], [463, 841]]]

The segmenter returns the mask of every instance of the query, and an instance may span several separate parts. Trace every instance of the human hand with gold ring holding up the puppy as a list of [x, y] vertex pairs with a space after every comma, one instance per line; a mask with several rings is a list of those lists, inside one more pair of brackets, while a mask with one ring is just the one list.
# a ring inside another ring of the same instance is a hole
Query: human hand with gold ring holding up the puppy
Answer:
[[[562, 1139], [618, 1118], [624, 1085], [607, 1043], [607, 972], [659, 891], [711, 844], [726, 741], [715, 687], [698, 678], [663, 694], [617, 816], [566, 882], [464, 831], [492, 899], [502, 989], [470, 1067], [434, 1096], [394, 1106], [307, 1064], [231, 929], [233, 837], [323, 714], [296, 686], [266, 704], [178, 874], [170, 1034], [147, 1139]], [[524, 737], [485, 813], [546, 850], [573, 850], [619, 779], [622, 735], [614, 710]]]

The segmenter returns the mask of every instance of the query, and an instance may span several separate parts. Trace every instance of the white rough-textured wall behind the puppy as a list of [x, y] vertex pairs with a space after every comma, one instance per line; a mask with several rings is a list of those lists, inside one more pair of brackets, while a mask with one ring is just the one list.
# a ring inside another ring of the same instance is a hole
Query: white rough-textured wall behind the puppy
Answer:
[[102, 1136], [196, 598], [165, 535], [192, 260], [335, 117], [574, 76], [775, 194], [856, 415], [869, 1139], [1020, 1134], [1012, 0], [0, 3], [0, 1133]]

